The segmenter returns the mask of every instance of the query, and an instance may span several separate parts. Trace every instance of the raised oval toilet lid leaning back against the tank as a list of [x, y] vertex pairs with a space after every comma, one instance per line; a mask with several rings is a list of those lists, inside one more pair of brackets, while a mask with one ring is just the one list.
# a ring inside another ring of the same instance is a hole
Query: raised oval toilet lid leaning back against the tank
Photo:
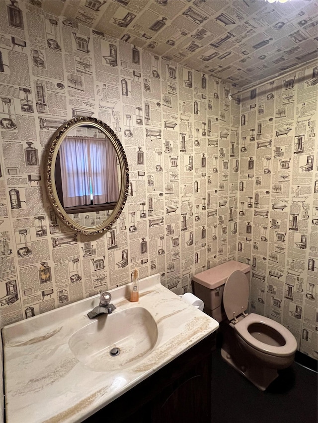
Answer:
[[233, 313], [237, 317], [247, 309], [248, 294], [246, 275], [241, 270], [236, 270], [228, 277], [223, 291], [223, 305], [229, 320], [234, 319]]

